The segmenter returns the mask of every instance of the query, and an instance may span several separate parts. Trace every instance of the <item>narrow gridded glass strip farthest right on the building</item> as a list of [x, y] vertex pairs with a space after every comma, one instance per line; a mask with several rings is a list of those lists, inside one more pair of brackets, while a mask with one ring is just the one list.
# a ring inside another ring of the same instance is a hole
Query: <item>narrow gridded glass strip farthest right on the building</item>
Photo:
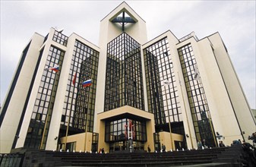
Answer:
[[214, 147], [213, 124], [191, 44], [182, 46], [178, 52], [197, 140], [205, 139], [208, 146]]

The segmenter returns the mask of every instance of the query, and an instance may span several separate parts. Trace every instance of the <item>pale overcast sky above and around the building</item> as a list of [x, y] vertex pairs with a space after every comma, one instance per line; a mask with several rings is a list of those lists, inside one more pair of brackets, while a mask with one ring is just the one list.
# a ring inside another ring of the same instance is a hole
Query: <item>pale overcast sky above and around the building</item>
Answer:
[[[171, 30], [199, 39], [219, 32], [252, 109], [255, 105], [255, 1], [125, 1], [147, 24], [148, 39]], [[33, 33], [51, 27], [77, 33], [98, 46], [100, 20], [122, 1], [1, 0], [1, 105], [21, 52]]]

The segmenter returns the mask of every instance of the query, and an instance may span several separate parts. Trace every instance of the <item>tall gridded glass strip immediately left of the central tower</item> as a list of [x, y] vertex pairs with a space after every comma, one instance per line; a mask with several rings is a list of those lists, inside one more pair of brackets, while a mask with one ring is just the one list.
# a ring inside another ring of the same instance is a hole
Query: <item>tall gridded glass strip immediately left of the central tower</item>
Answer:
[[[93, 132], [99, 52], [76, 40], [62, 110], [60, 137]], [[83, 87], [85, 80], [90, 87]]]

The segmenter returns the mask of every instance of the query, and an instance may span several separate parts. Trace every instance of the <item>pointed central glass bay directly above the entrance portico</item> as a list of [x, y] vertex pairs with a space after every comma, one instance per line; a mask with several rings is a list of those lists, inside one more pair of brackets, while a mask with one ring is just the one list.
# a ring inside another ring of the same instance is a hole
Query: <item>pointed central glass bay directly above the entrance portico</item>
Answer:
[[104, 111], [121, 106], [144, 110], [141, 45], [127, 33], [107, 46]]

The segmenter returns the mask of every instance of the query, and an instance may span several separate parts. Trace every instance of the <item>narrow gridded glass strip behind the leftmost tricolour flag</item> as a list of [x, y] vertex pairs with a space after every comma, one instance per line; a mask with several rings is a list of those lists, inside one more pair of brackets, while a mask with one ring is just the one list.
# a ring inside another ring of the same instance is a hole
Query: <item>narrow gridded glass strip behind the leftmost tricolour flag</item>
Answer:
[[45, 65], [46, 70], [43, 71], [43, 76], [41, 77], [24, 147], [43, 150], [46, 147], [55, 94], [58, 88], [58, 79], [61, 74], [61, 71], [55, 72], [47, 70], [47, 68], [55, 67], [56, 65], [62, 68], [64, 54], [65, 52], [54, 46], [49, 49]]

